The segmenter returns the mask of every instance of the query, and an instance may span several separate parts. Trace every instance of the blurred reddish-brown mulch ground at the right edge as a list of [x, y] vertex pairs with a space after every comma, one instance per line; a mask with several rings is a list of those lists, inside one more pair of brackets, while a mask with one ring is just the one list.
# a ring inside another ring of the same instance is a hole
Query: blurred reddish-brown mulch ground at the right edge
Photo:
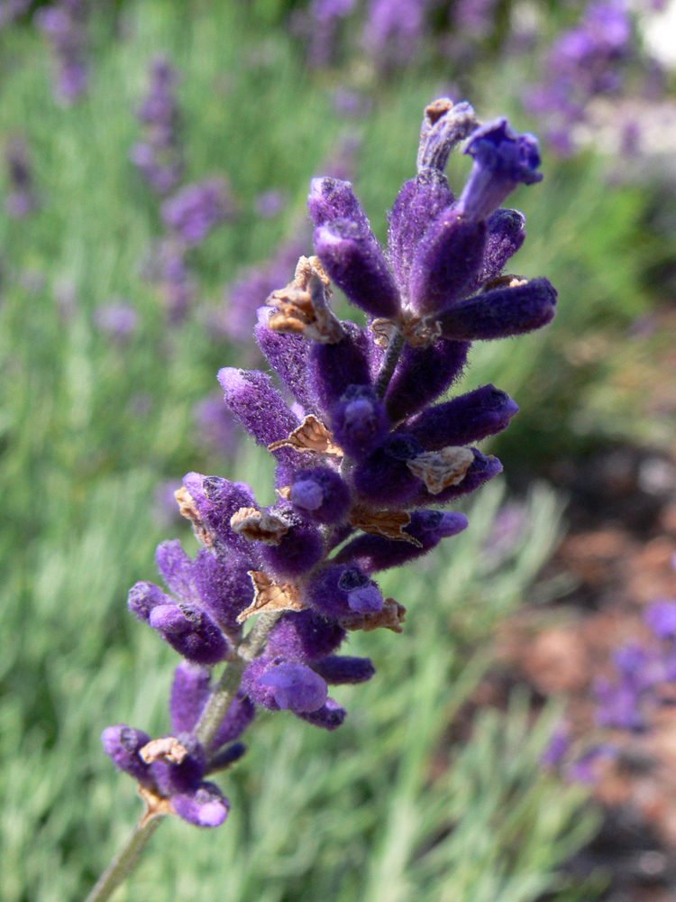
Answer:
[[[676, 463], [615, 447], [559, 462], [549, 475], [571, 504], [569, 533], [546, 576], [566, 574], [576, 588], [507, 621], [498, 667], [474, 702], [504, 704], [511, 686], [526, 683], [540, 702], [565, 697], [572, 735], [589, 741], [594, 682], [613, 676], [612, 650], [650, 642], [645, 606], [676, 599]], [[619, 754], [598, 762], [594, 787], [605, 823], [570, 868], [611, 875], [607, 902], [676, 902], [676, 704], [655, 711], [648, 732], [610, 738]]]

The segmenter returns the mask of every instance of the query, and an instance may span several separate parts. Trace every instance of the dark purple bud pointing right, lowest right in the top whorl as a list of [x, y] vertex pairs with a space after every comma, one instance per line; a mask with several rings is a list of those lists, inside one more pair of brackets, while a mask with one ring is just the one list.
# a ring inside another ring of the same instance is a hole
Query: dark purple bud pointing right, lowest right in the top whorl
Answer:
[[460, 339], [524, 335], [553, 320], [556, 298], [556, 290], [546, 279], [486, 291], [445, 310], [439, 318], [442, 333]]

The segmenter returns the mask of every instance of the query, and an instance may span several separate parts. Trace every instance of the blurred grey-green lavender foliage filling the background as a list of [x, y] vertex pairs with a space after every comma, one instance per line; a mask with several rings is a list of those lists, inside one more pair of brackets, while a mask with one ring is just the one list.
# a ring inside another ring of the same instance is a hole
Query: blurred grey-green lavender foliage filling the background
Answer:
[[[166, 496], [197, 470], [236, 475], [272, 500], [265, 456], [236, 435], [227, 448], [209, 440], [196, 409], [214, 395], [219, 366], [259, 363], [251, 342], [213, 327], [228, 286], [289, 243], [311, 250], [307, 185], [329, 167], [347, 170], [384, 239], [434, 97], [467, 97], [481, 118], [507, 114], [537, 132], [522, 93], [546, 42], [581, 9], [534, 4], [535, 38], [516, 51], [514, 10], [525, 7], [500, 2], [488, 33], [440, 52], [457, 34], [438, 4], [415, 58], [379, 68], [358, 18], [343, 23], [334, 60], [308, 65], [293, 25], [307, 14], [301, 0], [102, 2], [87, 20], [87, 90], [64, 106], [37, 6], [23, 5], [0, 32], [0, 135], [25, 145], [35, 193], [29, 216], [0, 211], [5, 902], [82, 897], [138, 814], [99, 735], [121, 721], [167, 728], [175, 655], [125, 605], [135, 580], [154, 577], [160, 540], [178, 535], [196, 549]], [[235, 209], [187, 252], [196, 298], [180, 322], [147, 277], [160, 200], [130, 162], [158, 54], [179, 74], [184, 180], [226, 177]], [[336, 106], [340, 86], [357, 91], [359, 113]], [[452, 185], [468, 170], [456, 156]], [[489, 485], [467, 533], [384, 586], [407, 605], [404, 635], [351, 641], [379, 672], [339, 694], [351, 712], [343, 729], [261, 717], [250, 754], [224, 780], [228, 823], [213, 833], [165, 825], [119, 898], [526, 902], [596, 891], [560, 870], [596, 820], [583, 789], [539, 767], [556, 712], [531, 723], [517, 694], [507, 712], [480, 713], [461, 741], [453, 732], [498, 622], [526, 597], [561, 591], [540, 580], [533, 594], [563, 506], [536, 477], [609, 438], [672, 442], [662, 408], [645, 413], [637, 400], [668, 353], [667, 333], [650, 324], [673, 301], [671, 184], [659, 167], [594, 143], [566, 159], [545, 146], [543, 170], [542, 185], [514, 198], [529, 237], [510, 268], [553, 281], [558, 316], [542, 334], [477, 346], [465, 379], [495, 382], [522, 409], [491, 448], [507, 480], [522, 477], [512, 486], [522, 492], [516, 538], [495, 552], [511, 495]], [[272, 190], [285, 203], [261, 216], [257, 198]], [[128, 334], [101, 327], [97, 311], [111, 303], [135, 311]], [[627, 382], [632, 361], [639, 374]]]

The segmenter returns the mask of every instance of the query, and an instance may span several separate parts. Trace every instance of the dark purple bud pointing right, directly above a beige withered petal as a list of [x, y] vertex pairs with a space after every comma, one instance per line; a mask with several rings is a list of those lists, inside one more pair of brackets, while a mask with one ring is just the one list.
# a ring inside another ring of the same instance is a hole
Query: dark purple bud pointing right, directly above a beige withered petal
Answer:
[[517, 412], [518, 405], [507, 392], [484, 385], [418, 414], [407, 424], [407, 433], [426, 451], [440, 451], [496, 435]]

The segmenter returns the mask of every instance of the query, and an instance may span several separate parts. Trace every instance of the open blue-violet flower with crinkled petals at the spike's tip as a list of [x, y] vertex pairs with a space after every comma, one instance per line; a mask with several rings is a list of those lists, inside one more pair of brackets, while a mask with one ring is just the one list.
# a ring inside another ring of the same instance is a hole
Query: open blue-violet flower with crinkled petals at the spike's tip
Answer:
[[472, 133], [465, 148], [474, 158], [470, 178], [458, 202], [471, 222], [486, 219], [519, 184], [542, 180], [540, 152], [533, 134], [517, 134], [507, 119], [496, 119]]

